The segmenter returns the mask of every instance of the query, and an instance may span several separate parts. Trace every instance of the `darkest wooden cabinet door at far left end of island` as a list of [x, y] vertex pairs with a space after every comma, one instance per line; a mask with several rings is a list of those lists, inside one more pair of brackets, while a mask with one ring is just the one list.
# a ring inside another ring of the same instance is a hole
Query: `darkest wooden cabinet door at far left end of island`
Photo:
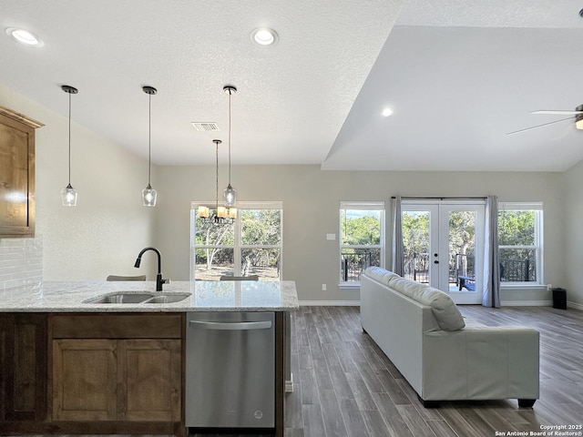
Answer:
[[0, 315], [0, 422], [46, 418], [46, 316]]

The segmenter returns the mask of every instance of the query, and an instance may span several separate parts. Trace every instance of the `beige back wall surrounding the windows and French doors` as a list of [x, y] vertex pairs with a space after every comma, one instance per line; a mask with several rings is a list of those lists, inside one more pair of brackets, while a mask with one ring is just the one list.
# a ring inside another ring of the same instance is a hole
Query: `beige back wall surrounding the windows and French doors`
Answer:
[[[214, 168], [160, 167], [156, 244], [164, 252], [165, 275], [189, 279], [189, 206], [215, 197]], [[226, 182], [220, 168], [220, 191]], [[391, 196], [486, 196], [500, 201], [542, 201], [545, 209], [545, 280], [560, 286], [564, 271], [563, 200], [559, 173], [326, 172], [319, 166], [245, 166], [232, 169], [240, 200], [283, 202], [283, 279], [296, 281], [300, 300], [358, 300], [358, 290], [339, 290], [338, 235], [341, 200]], [[387, 229], [390, 229], [387, 214]], [[391, 244], [387, 232], [387, 248]], [[389, 250], [390, 252], [390, 250]], [[389, 259], [387, 259], [387, 265]], [[327, 290], [322, 291], [322, 284]], [[503, 301], [548, 302], [544, 289], [504, 290]]]

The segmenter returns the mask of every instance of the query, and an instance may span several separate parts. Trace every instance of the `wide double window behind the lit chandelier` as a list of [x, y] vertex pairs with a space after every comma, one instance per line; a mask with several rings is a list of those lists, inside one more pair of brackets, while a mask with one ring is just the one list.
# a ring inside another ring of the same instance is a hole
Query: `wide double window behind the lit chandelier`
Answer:
[[281, 278], [281, 202], [239, 202], [235, 223], [222, 226], [205, 225], [197, 216], [199, 203], [203, 204], [192, 202], [190, 210], [192, 279], [219, 280], [223, 275]]

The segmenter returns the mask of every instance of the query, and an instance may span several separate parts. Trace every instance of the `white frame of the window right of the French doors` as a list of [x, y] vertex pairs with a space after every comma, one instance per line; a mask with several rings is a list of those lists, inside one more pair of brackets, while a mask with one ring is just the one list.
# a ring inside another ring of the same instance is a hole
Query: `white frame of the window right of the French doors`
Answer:
[[[503, 211], [533, 211], [535, 213], [534, 244], [533, 245], [501, 245], [498, 243], [498, 259], [501, 249], [528, 249], [535, 252], [535, 275], [533, 281], [500, 281], [501, 288], [533, 288], [545, 284], [544, 279], [544, 208], [543, 202], [498, 202], [498, 222]], [[499, 235], [498, 235], [499, 238]]]

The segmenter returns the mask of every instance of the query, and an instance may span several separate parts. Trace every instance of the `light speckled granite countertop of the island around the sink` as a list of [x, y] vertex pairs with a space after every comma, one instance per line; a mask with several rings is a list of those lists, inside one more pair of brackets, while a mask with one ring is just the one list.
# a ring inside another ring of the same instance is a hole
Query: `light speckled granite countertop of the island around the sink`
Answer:
[[[293, 280], [170, 281], [163, 289], [155, 291], [154, 281], [46, 281], [0, 290], [0, 312], [291, 311], [299, 305]], [[173, 303], [86, 303], [119, 292], [187, 297]]]

